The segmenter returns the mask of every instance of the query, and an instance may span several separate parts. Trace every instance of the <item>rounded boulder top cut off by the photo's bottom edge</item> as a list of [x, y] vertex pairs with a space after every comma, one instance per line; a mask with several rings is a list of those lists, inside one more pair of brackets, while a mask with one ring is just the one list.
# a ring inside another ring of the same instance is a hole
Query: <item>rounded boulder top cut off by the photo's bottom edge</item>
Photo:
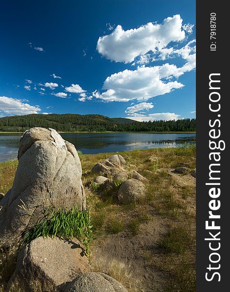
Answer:
[[127, 292], [114, 278], [103, 273], [85, 273], [67, 286], [65, 292]]

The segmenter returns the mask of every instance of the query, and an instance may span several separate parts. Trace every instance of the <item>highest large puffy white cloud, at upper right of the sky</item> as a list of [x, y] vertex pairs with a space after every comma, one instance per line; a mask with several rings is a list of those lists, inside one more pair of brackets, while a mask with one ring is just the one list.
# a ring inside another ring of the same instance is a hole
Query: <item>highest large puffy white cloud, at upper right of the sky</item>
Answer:
[[185, 38], [179, 15], [165, 18], [162, 24], [147, 23], [137, 29], [124, 31], [117, 25], [110, 35], [99, 37], [97, 51], [115, 62], [133, 62], [137, 56], [165, 48], [171, 41]]

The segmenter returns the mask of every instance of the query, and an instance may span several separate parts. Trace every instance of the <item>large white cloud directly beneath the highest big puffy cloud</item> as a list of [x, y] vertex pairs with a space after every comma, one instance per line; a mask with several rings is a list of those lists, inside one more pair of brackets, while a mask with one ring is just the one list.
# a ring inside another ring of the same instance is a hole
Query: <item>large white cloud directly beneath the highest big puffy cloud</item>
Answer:
[[124, 70], [106, 78], [102, 88], [105, 92], [100, 94], [94, 91], [92, 95], [104, 101], [148, 100], [183, 87], [184, 85], [177, 81], [166, 82], [161, 79], [178, 77], [186, 70], [189, 69], [177, 68], [168, 63], [155, 67], [139, 67], [134, 71]]

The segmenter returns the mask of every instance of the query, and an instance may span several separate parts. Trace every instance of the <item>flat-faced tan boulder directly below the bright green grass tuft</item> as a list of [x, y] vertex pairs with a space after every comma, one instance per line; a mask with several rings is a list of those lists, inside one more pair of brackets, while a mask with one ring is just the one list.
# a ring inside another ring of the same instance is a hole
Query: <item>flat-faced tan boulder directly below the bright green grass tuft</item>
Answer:
[[79, 274], [89, 271], [88, 258], [76, 238], [63, 240], [58, 237], [38, 237], [20, 251], [16, 270], [8, 286], [17, 278], [26, 287], [38, 279], [41, 283], [48, 282], [61, 288]]

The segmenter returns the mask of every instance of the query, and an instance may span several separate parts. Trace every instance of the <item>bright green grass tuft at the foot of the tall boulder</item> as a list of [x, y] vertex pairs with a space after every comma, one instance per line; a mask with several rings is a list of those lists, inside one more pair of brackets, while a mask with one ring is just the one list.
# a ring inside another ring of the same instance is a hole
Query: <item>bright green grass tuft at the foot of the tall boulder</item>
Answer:
[[73, 239], [77, 237], [85, 244], [86, 255], [89, 255], [89, 245], [92, 241], [91, 215], [88, 210], [79, 211], [77, 207], [70, 210], [56, 210], [54, 207], [44, 211], [43, 218], [24, 235], [26, 243], [42, 237], [59, 237]]

